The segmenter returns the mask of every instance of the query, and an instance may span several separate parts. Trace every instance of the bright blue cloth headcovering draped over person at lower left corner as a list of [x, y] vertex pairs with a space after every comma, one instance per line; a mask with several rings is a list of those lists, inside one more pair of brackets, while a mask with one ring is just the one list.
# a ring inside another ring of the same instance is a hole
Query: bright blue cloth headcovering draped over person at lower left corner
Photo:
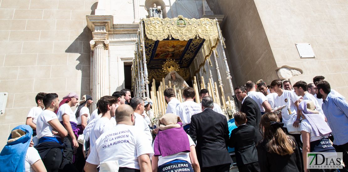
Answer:
[[[13, 142], [7, 143], [0, 153], [0, 172], [24, 172], [25, 156], [29, 148], [33, 129], [29, 125], [19, 125], [13, 130], [22, 130], [25, 134]], [[13, 131], [12, 130], [12, 131]], [[12, 133], [8, 140], [12, 139]]]

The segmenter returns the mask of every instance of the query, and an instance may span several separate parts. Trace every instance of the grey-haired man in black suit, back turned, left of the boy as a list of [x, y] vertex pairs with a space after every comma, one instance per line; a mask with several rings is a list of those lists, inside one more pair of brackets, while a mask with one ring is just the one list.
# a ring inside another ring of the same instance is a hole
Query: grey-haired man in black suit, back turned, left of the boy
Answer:
[[214, 112], [213, 98], [202, 99], [201, 113], [191, 116], [189, 135], [197, 141], [196, 153], [201, 172], [229, 172], [232, 159], [228, 153], [229, 139], [226, 116]]

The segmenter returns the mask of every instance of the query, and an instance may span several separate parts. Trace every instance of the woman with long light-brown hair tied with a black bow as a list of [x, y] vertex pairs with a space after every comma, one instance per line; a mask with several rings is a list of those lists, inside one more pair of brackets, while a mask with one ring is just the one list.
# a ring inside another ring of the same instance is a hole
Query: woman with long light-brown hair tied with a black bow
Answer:
[[295, 138], [287, 135], [278, 116], [269, 112], [261, 117], [262, 140], [257, 144], [261, 172], [301, 172], [301, 155]]

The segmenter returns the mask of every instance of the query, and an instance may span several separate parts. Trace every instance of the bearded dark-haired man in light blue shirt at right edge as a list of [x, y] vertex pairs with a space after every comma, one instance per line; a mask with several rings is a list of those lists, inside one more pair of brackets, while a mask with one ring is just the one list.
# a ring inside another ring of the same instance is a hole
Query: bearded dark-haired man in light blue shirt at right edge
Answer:
[[344, 157], [348, 151], [348, 103], [343, 96], [332, 93], [327, 81], [316, 82], [315, 92], [323, 99], [322, 109], [334, 137], [332, 146]]

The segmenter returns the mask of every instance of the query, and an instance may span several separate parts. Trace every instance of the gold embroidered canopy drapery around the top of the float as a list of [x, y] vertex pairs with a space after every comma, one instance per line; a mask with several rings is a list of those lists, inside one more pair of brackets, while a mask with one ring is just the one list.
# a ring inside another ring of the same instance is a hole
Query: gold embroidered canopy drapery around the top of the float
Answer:
[[[219, 33], [217, 30], [216, 21], [212, 19], [188, 19], [179, 15], [176, 18], [164, 19], [158, 17], [151, 17], [145, 18], [143, 19], [143, 21], [144, 33], [146, 37], [154, 41], [162, 41], [171, 37], [180, 41], [188, 41], [190, 39], [197, 38], [204, 39], [203, 46], [200, 50], [200, 58], [203, 58], [199, 60], [197, 59], [195, 63], [192, 63], [190, 65], [193, 76], [199, 72], [202, 66], [205, 65], [205, 60], [211, 56], [212, 51], [216, 48], [219, 40]], [[197, 58], [197, 56], [191, 58]], [[180, 71], [182, 69], [183, 68], [181, 68]], [[185, 71], [188, 72], [188, 70]], [[150, 72], [152, 76], [154, 74], [153, 72], [155, 71], [151, 70]], [[179, 73], [183, 73], [183, 71]], [[157, 77], [153, 78], [157, 79]], [[188, 78], [186, 77], [184, 79], [186, 80]]]

